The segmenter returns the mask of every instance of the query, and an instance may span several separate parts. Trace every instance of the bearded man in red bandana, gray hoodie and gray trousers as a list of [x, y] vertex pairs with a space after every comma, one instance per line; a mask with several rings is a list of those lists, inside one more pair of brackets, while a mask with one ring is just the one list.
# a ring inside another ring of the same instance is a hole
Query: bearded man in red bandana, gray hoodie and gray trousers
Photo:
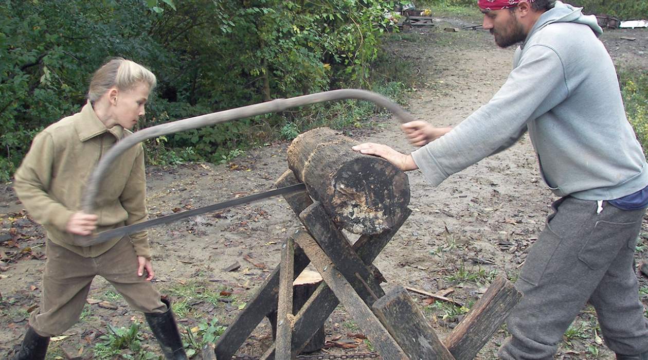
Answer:
[[433, 185], [513, 145], [528, 131], [540, 174], [558, 197], [527, 254], [502, 359], [553, 359], [587, 302], [618, 360], [648, 360], [648, 319], [634, 249], [648, 207], [648, 166], [625, 116], [596, 17], [549, 0], [478, 0], [483, 28], [500, 47], [520, 43], [493, 98], [455, 128], [404, 124], [421, 146], [404, 155], [365, 143], [353, 149]]

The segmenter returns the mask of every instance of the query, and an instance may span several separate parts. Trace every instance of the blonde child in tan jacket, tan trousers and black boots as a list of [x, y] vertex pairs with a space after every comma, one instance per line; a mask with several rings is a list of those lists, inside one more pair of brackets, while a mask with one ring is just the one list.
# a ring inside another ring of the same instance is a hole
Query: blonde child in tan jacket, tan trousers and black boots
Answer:
[[93, 168], [115, 142], [131, 134], [155, 85], [155, 75], [145, 67], [110, 60], [93, 75], [87, 104], [38, 133], [16, 171], [17, 196], [47, 230], [47, 262], [40, 309], [32, 312], [15, 359], [44, 359], [49, 338], [78, 321], [96, 275], [108, 280], [131, 308], [145, 313], [167, 359], [187, 359], [170, 304], [150, 282], [155, 272], [148, 232], [87, 247], [75, 243], [75, 234], [146, 220], [141, 144], [113, 164], [97, 196], [96, 214], [79, 209]]

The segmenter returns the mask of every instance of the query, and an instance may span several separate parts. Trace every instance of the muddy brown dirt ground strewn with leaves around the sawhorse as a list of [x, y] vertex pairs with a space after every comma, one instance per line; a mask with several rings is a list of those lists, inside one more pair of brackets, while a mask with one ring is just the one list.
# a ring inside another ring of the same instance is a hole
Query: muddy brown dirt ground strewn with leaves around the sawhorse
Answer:
[[[419, 84], [410, 93], [408, 111], [421, 120], [448, 126], [470, 115], [503, 84], [513, 49], [497, 48], [486, 31], [461, 30], [471, 25], [463, 21], [437, 19], [435, 24], [394, 35], [386, 51], [409, 62], [418, 74]], [[447, 27], [459, 31], [445, 31]], [[647, 34], [645, 29], [608, 30], [602, 39], [619, 67], [646, 70]], [[350, 128], [344, 133], [360, 142], [382, 142], [402, 152], [414, 150], [391, 116], [376, 115], [366, 122], [373, 126]], [[281, 142], [251, 150], [231, 164], [148, 168], [151, 216], [272, 188], [287, 168], [287, 146], [287, 142]], [[400, 284], [430, 293], [452, 290], [448, 297], [470, 305], [494, 276], [515, 280], [527, 248], [536, 240], [548, 206], [555, 199], [540, 179], [528, 138], [452, 175], [437, 188], [426, 183], [420, 172], [408, 175], [413, 212], [375, 262], [387, 280], [385, 289]], [[3, 358], [20, 343], [29, 311], [38, 306], [45, 249], [43, 231], [26, 215], [10, 183], [0, 185], [0, 223]], [[185, 306], [177, 309], [183, 331], [191, 332], [191, 328], [213, 318], [224, 325], [233, 321], [279, 264], [286, 234], [299, 227], [285, 201], [275, 197], [152, 229], [155, 281], [176, 304]], [[647, 254], [647, 229], [644, 227], [640, 239], [638, 261]], [[235, 262], [240, 264], [238, 269], [223, 270]], [[642, 300], [648, 305], [648, 281], [638, 276]], [[50, 358], [91, 358], [92, 348], [100, 341], [98, 337], [108, 332], [108, 324], [121, 327], [143, 322], [143, 316], [110, 289], [103, 279], [95, 280], [89, 298], [105, 302], [89, 304], [81, 321], [52, 341]], [[214, 300], [205, 294], [218, 296]], [[411, 295], [440, 337], [448, 335], [465, 316], [466, 309], [430, 304], [425, 296]], [[612, 359], [613, 354], [601, 342], [593, 313], [592, 308], [583, 309], [564, 337], [557, 359]], [[362, 329], [341, 306], [325, 326], [329, 348], [319, 354], [371, 352], [370, 341], [357, 335]], [[144, 328], [145, 348], [159, 354], [148, 328]], [[505, 335], [504, 328], [498, 331], [478, 359], [494, 358]], [[260, 355], [270, 343], [270, 325], [264, 321], [240, 354]]]

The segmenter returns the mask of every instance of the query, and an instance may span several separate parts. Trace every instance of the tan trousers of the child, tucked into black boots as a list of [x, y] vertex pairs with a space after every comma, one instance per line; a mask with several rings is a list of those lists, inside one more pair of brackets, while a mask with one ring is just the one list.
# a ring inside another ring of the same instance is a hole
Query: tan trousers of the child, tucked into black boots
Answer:
[[137, 276], [137, 255], [128, 236], [95, 258], [84, 258], [49, 239], [46, 245], [41, 306], [29, 319], [39, 335], [60, 335], [78, 321], [95, 275], [108, 280], [131, 308], [145, 313], [167, 311], [156, 287], [145, 280], [146, 271]]

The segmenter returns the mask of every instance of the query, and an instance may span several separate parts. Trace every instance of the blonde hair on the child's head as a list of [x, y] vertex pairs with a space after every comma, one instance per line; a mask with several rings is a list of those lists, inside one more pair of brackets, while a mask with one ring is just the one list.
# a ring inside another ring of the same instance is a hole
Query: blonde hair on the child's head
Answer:
[[153, 89], [157, 84], [156, 76], [139, 63], [113, 58], [93, 74], [87, 98], [94, 103], [111, 87], [128, 91], [138, 84], [146, 84], [149, 89]]

